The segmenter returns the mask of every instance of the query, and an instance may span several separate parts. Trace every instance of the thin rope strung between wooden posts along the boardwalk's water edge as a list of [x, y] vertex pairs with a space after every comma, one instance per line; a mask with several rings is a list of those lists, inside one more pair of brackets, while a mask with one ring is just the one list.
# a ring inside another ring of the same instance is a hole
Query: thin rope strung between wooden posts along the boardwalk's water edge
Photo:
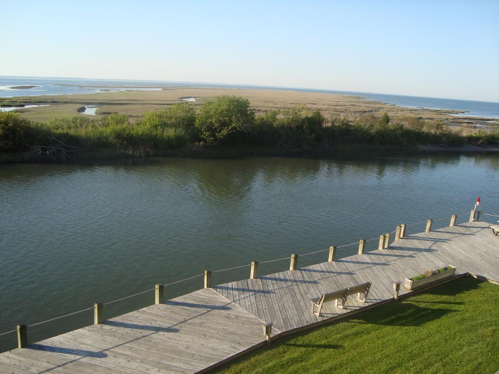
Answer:
[[[462, 214], [462, 213], [460, 213]], [[483, 213], [485, 215], [490, 215], [490, 216], [494, 216], [494, 217], [499, 217], [499, 215], [496, 215], [496, 214], [492, 214], [492, 213]], [[436, 218], [436, 219], [433, 219], [433, 221], [439, 221], [439, 220], [444, 220], [444, 219], [449, 219], [451, 218], [452, 216], [448, 216], [448, 217], [442, 217], [442, 218]], [[406, 224], [406, 226], [413, 226], [413, 225], [417, 225], [417, 224], [423, 224], [423, 223], [427, 223], [428, 221], [421, 221], [421, 222], [415, 222], [415, 223], [408, 223]], [[395, 233], [397, 231], [397, 229], [393, 230], [392, 232], [389, 233], [389, 235]], [[368, 242], [368, 241], [373, 241], [373, 240], [378, 240], [379, 238], [378, 237], [374, 237], [374, 238], [370, 238], [370, 239], [365, 239], [364, 242]], [[337, 246], [336, 248], [344, 248], [344, 247], [348, 247], [348, 246], [351, 246], [351, 245], [356, 245], [356, 244], [359, 244], [359, 241], [355, 241], [353, 243], [349, 243], [349, 244], [343, 244], [343, 245], [340, 245], [340, 246]], [[317, 250], [317, 251], [312, 251], [312, 252], [307, 252], [307, 253], [302, 253], [302, 254], [299, 254], [298, 256], [308, 256], [308, 255], [311, 255], [311, 254], [315, 254], [315, 253], [320, 253], [320, 252], [325, 252], [325, 251], [328, 251], [330, 249], [320, 249], [320, 250]], [[360, 253], [360, 252], [359, 252]], [[275, 262], [275, 261], [283, 261], [283, 260], [289, 260], [289, 256], [287, 257], [282, 257], [282, 258], [276, 258], [276, 259], [272, 259], [272, 260], [266, 260], [266, 261], [262, 261], [262, 262], [259, 262], [260, 264], [266, 264], [266, 263], [270, 263], [270, 262]], [[251, 266], [251, 264], [245, 264], [245, 265], [240, 265], [240, 266], [233, 266], [233, 267], [229, 267], [229, 268], [225, 268], [225, 269], [219, 269], [219, 270], [214, 270], [213, 272], [210, 272], [210, 273], [219, 273], [219, 272], [223, 272], [223, 271], [228, 271], [228, 270], [234, 270], [234, 269], [240, 269], [240, 268], [244, 268], [244, 267], [249, 267]], [[181, 279], [181, 280], [178, 280], [178, 281], [175, 281], [175, 282], [171, 282], [171, 283], [168, 283], [168, 284], [164, 284], [162, 285], [163, 287], [167, 287], [167, 286], [171, 286], [171, 285], [174, 285], [174, 284], [177, 284], [177, 283], [181, 283], [181, 282], [184, 282], [184, 281], [187, 281], [187, 280], [190, 280], [190, 279], [194, 279], [194, 278], [197, 278], [197, 277], [201, 277], [205, 275], [206, 277], [206, 273], [202, 273], [202, 274], [197, 274], [197, 275], [193, 275], [192, 277], [188, 277], [188, 278], [185, 278], [185, 279]], [[138, 296], [138, 295], [142, 295], [142, 294], [145, 294], [147, 292], [151, 292], [151, 291], [154, 291], [156, 290], [156, 288], [151, 288], [151, 289], [148, 289], [148, 290], [145, 290], [145, 291], [141, 291], [141, 292], [138, 292], [136, 294], [133, 294], [133, 295], [129, 295], [129, 296], [125, 296], [125, 297], [122, 297], [122, 298], [119, 298], [119, 299], [116, 299], [116, 300], [112, 300], [112, 301], [109, 301], [107, 303], [104, 303], [102, 305], [109, 305], [109, 304], [113, 304], [113, 303], [116, 303], [118, 301], [122, 301], [122, 300], [125, 300], [125, 299], [130, 299], [132, 297], [135, 297], [135, 296]], [[51, 321], [55, 321], [55, 320], [58, 320], [58, 319], [61, 319], [61, 318], [65, 318], [65, 317], [69, 317], [69, 316], [72, 316], [72, 315], [75, 315], [75, 314], [78, 314], [78, 313], [82, 313], [82, 312], [86, 312], [86, 311], [89, 311], [89, 310], [92, 310], [94, 309], [94, 307], [91, 307], [91, 308], [86, 308], [86, 309], [82, 309], [82, 310], [79, 310], [77, 312], [72, 312], [72, 313], [68, 313], [68, 314], [65, 314], [65, 315], [62, 315], [62, 316], [59, 316], [59, 317], [54, 317], [54, 318], [51, 318], [51, 319], [48, 319], [48, 320], [45, 320], [45, 321], [41, 321], [41, 322], [37, 322], [35, 324], [32, 324], [32, 325], [29, 325], [28, 327], [34, 327], [34, 326], [38, 326], [38, 325], [41, 325], [41, 324], [44, 324], [44, 323], [47, 323], [47, 322], [51, 322]], [[7, 335], [7, 334], [11, 334], [11, 333], [14, 333], [16, 332], [17, 330], [11, 330], [11, 331], [7, 331], [7, 332], [4, 332], [4, 333], [1, 333], [0, 334], [0, 337], [3, 336], [3, 335]]]

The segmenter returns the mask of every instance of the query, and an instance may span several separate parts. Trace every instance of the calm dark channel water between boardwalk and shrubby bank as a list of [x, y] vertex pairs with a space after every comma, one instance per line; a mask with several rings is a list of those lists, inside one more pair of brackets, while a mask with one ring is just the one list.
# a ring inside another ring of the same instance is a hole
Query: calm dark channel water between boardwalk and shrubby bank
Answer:
[[[357, 160], [155, 159], [121, 165], [0, 166], [0, 333], [202, 273], [373, 238], [401, 222], [458, 213], [478, 196], [499, 212], [499, 156]], [[487, 218], [487, 217], [486, 217]], [[488, 217], [491, 218], [491, 217]], [[448, 225], [448, 219], [435, 221]], [[424, 224], [408, 227], [408, 233]], [[368, 242], [374, 249], [376, 240]], [[357, 246], [339, 249], [341, 256]], [[327, 251], [299, 258], [321, 262]], [[288, 261], [261, 264], [259, 274]], [[213, 274], [248, 278], [250, 268]], [[203, 279], [166, 288], [171, 298]], [[106, 305], [107, 317], [153, 292]], [[41, 339], [92, 312], [29, 329]], [[0, 337], [0, 351], [15, 334]]]

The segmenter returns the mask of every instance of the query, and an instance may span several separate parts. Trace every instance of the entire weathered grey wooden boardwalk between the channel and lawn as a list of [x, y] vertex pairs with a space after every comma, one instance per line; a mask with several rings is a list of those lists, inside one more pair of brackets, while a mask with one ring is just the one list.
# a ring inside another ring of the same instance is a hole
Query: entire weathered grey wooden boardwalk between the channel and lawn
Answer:
[[[400, 239], [389, 249], [214, 286], [0, 354], [0, 373], [200, 373], [265, 344], [264, 322], [285, 334], [391, 301], [392, 284], [444, 265], [499, 281], [499, 238], [470, 222]], [[327, 259], [327, 252], [324, 252]], [[287, 265], [287, 264], [286, 264]], [[365, 304], [309, 299], [366, 281]], [[406, 292], [401, 286], [401, 294]]]

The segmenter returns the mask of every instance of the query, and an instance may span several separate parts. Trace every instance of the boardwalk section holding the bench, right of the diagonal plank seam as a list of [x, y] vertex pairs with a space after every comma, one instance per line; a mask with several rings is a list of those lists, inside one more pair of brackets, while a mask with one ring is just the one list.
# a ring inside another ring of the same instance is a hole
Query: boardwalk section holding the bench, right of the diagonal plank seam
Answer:
[[[280, 332], [289, 332], [359, 308], [390, 300], [393, 282], [425, 270], [456, 266], [456, 274], [471, 273], [499, 281], [499, 238], [490, 223], [459, 226], [409, 235], [389, 249], [366, 252], [296, 270], [283, 271], [214, 289], [261, 320], [271, 321]], [[324, 252], [324, 257], [327, 252]], [[299, 261], [299, 259], [298, 259]], [[366, 303], [349, 297], [343, 309], [324, 303], [319, 318], [310, 312], [309, 299], [364, 282], [372, 282]]]

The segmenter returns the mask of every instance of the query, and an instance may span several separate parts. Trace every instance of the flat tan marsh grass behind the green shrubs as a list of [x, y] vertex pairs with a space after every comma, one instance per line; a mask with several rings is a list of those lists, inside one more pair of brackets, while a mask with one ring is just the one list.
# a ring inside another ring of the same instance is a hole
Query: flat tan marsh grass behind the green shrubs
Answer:
[[[236, 95], [250, 100], [256, 113], [264, 113], [276, 108], [290, 109], [301, 103], [312, 110], [318, 109], [328, 118], [344, 115], [349, 118], [361, 114], [373, 114], [381, 117], [388, 113], [390, 118], [404, 122], [406, 117], [416, 117], [423, 120], [459, 120], [449, 116], [449, 111], [436, 109], [414, 109], [387, 105], [374, 100], [365, 100], [355, 95], [340, 95], [320, 92], [230, 89], [230, 88], [196, 88], [167, 87], [160, 91], [124, 91], [100, 92], [93, 94], [57, 95], [57, 96], [26, 96], [16, 98], [0, 98], [0, 104], [51, 104], [43, 110], [26, 112], [27, 119], [37, 122], [48, 122], [58, 116], [71, 118], [76, 114], [67, 112], [67, 105], [77, 108], [82, 104], [99, 105], [98, 112], [102, 114], [119, 113], [131, 118], [140, 118], [146, 111], [159, 110], [181, 103], [182, 97], [195, 97], [196, 101], [189, 103], [195, 107], [218, 95]], [[64, 110], [57, 107], [65, 106]], [[41, 109], [41, 108], [40, 108]]]

